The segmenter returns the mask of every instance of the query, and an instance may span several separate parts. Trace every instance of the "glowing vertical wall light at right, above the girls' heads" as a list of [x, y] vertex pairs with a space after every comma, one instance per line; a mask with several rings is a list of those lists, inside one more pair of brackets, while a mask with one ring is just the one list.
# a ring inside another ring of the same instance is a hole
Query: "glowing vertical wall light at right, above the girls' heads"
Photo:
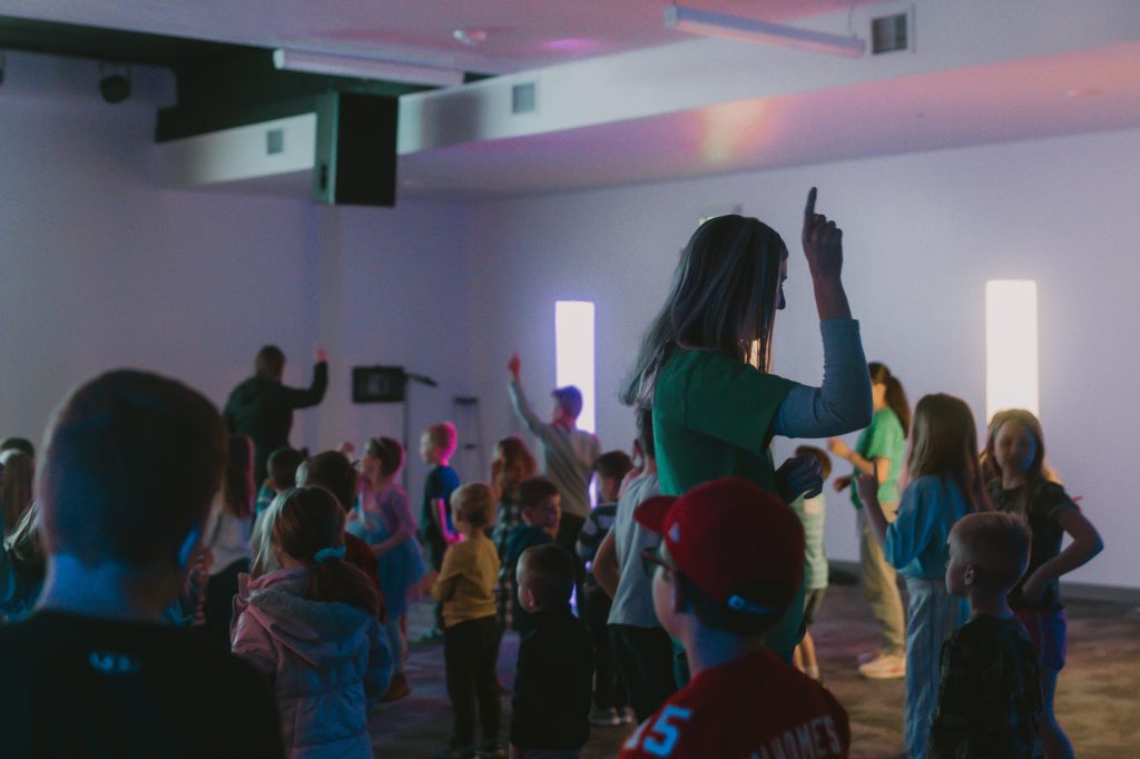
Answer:
[[986, 419], [1005, 408], [1037, 414], [1037, 283], [986, 283]]

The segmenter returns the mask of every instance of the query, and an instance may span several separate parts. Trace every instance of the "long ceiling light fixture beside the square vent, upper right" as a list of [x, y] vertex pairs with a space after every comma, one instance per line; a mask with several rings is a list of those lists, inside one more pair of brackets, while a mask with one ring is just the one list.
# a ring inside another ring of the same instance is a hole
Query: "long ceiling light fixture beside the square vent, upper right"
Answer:
[[813, 52], [828, 52], [849, 58], [862, 58], [866, 52], [866, 41], [854, 34], [828, 34], [796, 26], [783, 26], [752, 18], [716, 14], [683, 6], [665, 7], [665, 27], [702, 36], [723, 36], [727, 40], [743, 40], [762, 44], [782, 44]]

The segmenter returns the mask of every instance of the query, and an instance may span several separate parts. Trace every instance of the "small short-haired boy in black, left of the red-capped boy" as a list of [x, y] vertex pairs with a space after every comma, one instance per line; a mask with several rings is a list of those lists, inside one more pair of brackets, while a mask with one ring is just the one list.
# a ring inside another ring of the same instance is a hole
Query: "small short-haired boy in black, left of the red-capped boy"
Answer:
[[554, 544], [527, 548], [516, 581], [530, 629], [519, 645], [511, 757], [577, 757], [589, 737], [594, 654], [589, 632], [570, 611], [573, 561]]

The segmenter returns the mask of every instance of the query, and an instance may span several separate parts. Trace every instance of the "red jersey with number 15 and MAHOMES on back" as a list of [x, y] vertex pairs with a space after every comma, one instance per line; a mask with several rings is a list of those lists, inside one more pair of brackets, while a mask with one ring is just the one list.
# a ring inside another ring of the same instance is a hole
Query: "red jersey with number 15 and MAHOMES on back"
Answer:
[[642, 723], [621, 759], [846, 757], [847, 712], [768, 650], [699, 674]]

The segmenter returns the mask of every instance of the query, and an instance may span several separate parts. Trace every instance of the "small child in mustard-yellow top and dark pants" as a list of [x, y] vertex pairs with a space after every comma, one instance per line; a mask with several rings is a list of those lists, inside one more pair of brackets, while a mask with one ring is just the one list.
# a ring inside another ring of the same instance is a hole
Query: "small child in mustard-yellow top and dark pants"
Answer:
[[[451, 493], [451, 521], [463, 536], [448, 547], [432, 587], [443, 609], [443, 663], [447, 695], [455, 711], [450, 744], [438, 757], [503, 757], [498, 740], [499, 694], [495, 678], [498, 622], [495, 580], [499, 560], [483, 528], [491, 521], [495, 498], [482, 482]], [[475, 712], [483, 741], [475, 744]]]

